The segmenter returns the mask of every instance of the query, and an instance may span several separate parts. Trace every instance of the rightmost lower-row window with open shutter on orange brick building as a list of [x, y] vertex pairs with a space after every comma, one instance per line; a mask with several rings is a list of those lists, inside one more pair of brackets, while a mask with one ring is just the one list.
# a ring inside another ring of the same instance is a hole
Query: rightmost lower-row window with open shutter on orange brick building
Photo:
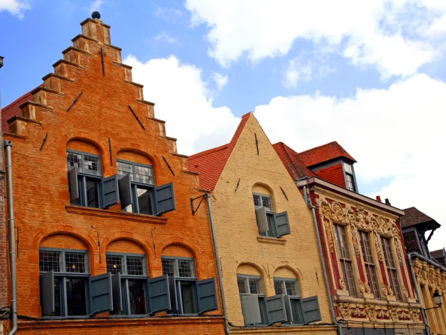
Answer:
[[192, 258], [162, 256], [162, 273], [169, 277], [172, 314], [199, 315], [217, 311], [215, 278], [197, 280]]

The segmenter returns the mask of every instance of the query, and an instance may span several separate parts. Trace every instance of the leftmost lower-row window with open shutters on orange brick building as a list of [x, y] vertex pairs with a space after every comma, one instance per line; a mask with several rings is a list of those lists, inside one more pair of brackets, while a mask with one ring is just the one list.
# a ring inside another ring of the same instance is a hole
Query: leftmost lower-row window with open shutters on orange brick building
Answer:
[[39, 269], [44, 317], [76, 318], [113, 309], [111, 274], [91, 277], [87, 251], [40, 248]]

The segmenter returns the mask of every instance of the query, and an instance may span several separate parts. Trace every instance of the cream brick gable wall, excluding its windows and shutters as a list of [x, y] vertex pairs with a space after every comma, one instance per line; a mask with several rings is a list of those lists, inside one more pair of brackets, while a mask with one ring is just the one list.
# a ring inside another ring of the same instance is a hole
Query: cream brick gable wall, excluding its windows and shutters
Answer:
[[[259, 155], [254, 133], [259, 141]], [[238, 179], [240, 184], [235, 191]], [[253, 191], [272, 195], [276, 213], [288, 211], [291, 234], [279, 239], [258, 239]], [[211, 202], [230, 322], [243, 325], [236, 277], [238, 273], [261, 275], [266, 297], [275, 295], [275, 276], [298, 278], [300, 295], [317, 295], [322, 321], [332, 322], [312, 212], [305, 205], [298, 188], [252, 114], [215, 186]], [[283, 330], [273, 328], [268, 330], [268, 334], [291, 332], [289, 327]], [[309, 334], [305, 328], [292, 329], [293, 334]], [[249, 334], [256, 332], [251, 330]], [[265, 328], [260, 332], [266, 332]], [[312, 334], [316, 332], [334, 334], [334, 329], [314, 327]]]

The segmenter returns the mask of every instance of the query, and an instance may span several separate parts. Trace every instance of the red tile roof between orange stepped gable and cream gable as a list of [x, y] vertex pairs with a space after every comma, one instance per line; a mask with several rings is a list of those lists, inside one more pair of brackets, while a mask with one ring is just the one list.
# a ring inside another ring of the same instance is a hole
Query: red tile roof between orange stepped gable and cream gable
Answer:
[[231, 152], [236, 146], [238, 137], [242, 133], [245, 124], [251, 116], [252, 112], [249, 112], [242, 117], [242, 121], [238, 124], [236, 133], [234, 133], [231, 142], [224, 144], [220, 147], [201, 151], [198, 154], [194, 154], [187, 158], [189, 163], [189, 170], [198, 172], [200, 187], [206, 190], [214, 191], [220, 174], [224, 169], [224, 165], [228, 161]]

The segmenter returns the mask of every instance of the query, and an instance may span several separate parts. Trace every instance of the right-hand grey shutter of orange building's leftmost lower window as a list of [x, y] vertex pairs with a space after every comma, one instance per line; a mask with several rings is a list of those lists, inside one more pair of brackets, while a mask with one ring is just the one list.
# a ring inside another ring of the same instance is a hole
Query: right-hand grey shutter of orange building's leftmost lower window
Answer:
[[91, 313], [113, 311], [112, 273], [89, 278]]

